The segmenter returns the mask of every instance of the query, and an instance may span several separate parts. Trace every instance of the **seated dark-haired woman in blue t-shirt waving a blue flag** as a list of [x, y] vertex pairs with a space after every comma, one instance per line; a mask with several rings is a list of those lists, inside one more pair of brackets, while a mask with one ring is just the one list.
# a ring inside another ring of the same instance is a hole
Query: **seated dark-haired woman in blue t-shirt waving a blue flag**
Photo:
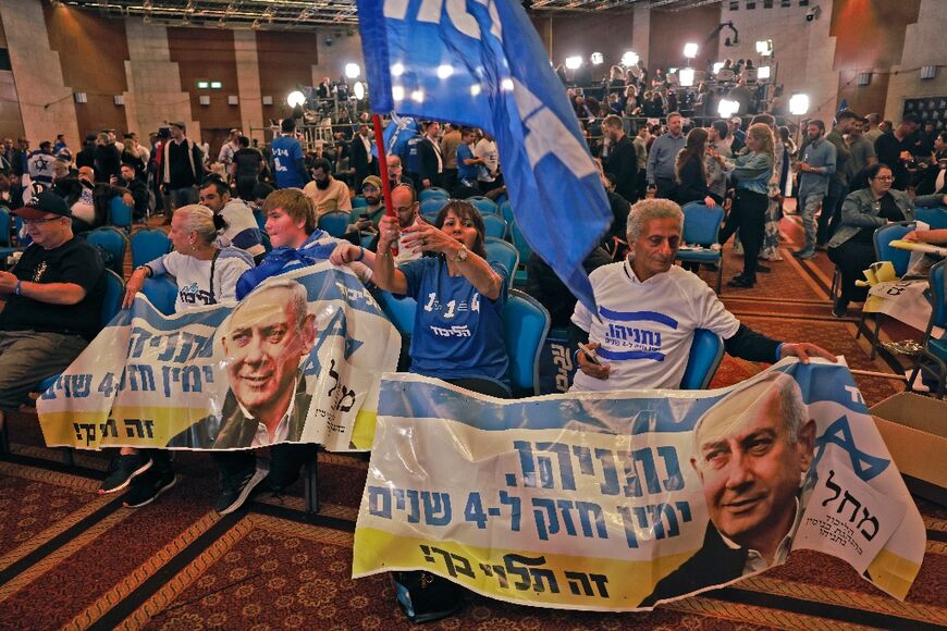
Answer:
[[[391, 247], [420, 248], [428, 256], [394, 267]], [[410, 372], [436, 376], [460, 387], [508, 398], [509, 359], [501, 314], [509, 274], [484, 257], [483, 219], [466, 201], [448, 202], [434, 225], [409, 225], [385, 215], [379, 224], [376, 284], [418, 301], [409, 355]], [[333, 262], [357, 260], [361, 251], [342, 244]], [[460, 607], [459, 587], [428, 572], [397, 572], [398, 605], [415, 622], [450, 616]]]

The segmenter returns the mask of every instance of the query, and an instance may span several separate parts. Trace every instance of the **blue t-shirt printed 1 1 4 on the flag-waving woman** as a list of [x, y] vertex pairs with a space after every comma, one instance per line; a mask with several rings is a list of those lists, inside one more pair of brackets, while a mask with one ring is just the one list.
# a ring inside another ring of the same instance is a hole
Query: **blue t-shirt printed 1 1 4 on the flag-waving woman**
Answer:
[[450, 276], [442, 257], [425, 257], [398, 268], [407, 279], [407, 295], [418, 301], [409, 350], [411, 372], [509, 383], [501, 319], [509, 275], [503, 265], [491, 262], [490, 267], [503, 279], [496, 300], [481, 296], [463, 275]]

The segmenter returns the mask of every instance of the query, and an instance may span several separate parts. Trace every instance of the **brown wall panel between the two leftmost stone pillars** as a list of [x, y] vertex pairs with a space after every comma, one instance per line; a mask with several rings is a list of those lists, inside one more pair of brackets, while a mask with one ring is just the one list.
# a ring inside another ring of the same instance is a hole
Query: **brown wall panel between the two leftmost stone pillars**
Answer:
[[63, 83], [85, 92], [88, 102], [75, 103], [79, 135], [127, 131], [125, 108], [114, 98], [128, 89], [125, 60], [128, 41], [125, 24], [70, 7], [44, 5], [49, 46], [59, 53]]

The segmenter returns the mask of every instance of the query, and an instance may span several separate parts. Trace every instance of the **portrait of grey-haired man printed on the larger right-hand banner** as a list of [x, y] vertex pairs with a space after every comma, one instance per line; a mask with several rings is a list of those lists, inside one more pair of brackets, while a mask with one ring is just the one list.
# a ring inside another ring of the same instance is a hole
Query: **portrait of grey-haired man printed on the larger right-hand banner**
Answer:
[[693, 443], [710, 523], [701, 548], [644, 607], [784, 562], [802, 515], [815, 421], [791, 376], [771, 372], [729, 393], [698, 420]]

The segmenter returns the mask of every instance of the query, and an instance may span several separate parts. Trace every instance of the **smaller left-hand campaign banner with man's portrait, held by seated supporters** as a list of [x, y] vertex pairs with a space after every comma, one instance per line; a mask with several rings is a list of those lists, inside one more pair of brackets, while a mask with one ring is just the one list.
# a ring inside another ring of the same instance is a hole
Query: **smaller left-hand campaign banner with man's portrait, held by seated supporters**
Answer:
[[49, 446], [369, 449], [399, 348], [358, 277], [325, 262], [185, 313], [139, 294], [36, 408]]

